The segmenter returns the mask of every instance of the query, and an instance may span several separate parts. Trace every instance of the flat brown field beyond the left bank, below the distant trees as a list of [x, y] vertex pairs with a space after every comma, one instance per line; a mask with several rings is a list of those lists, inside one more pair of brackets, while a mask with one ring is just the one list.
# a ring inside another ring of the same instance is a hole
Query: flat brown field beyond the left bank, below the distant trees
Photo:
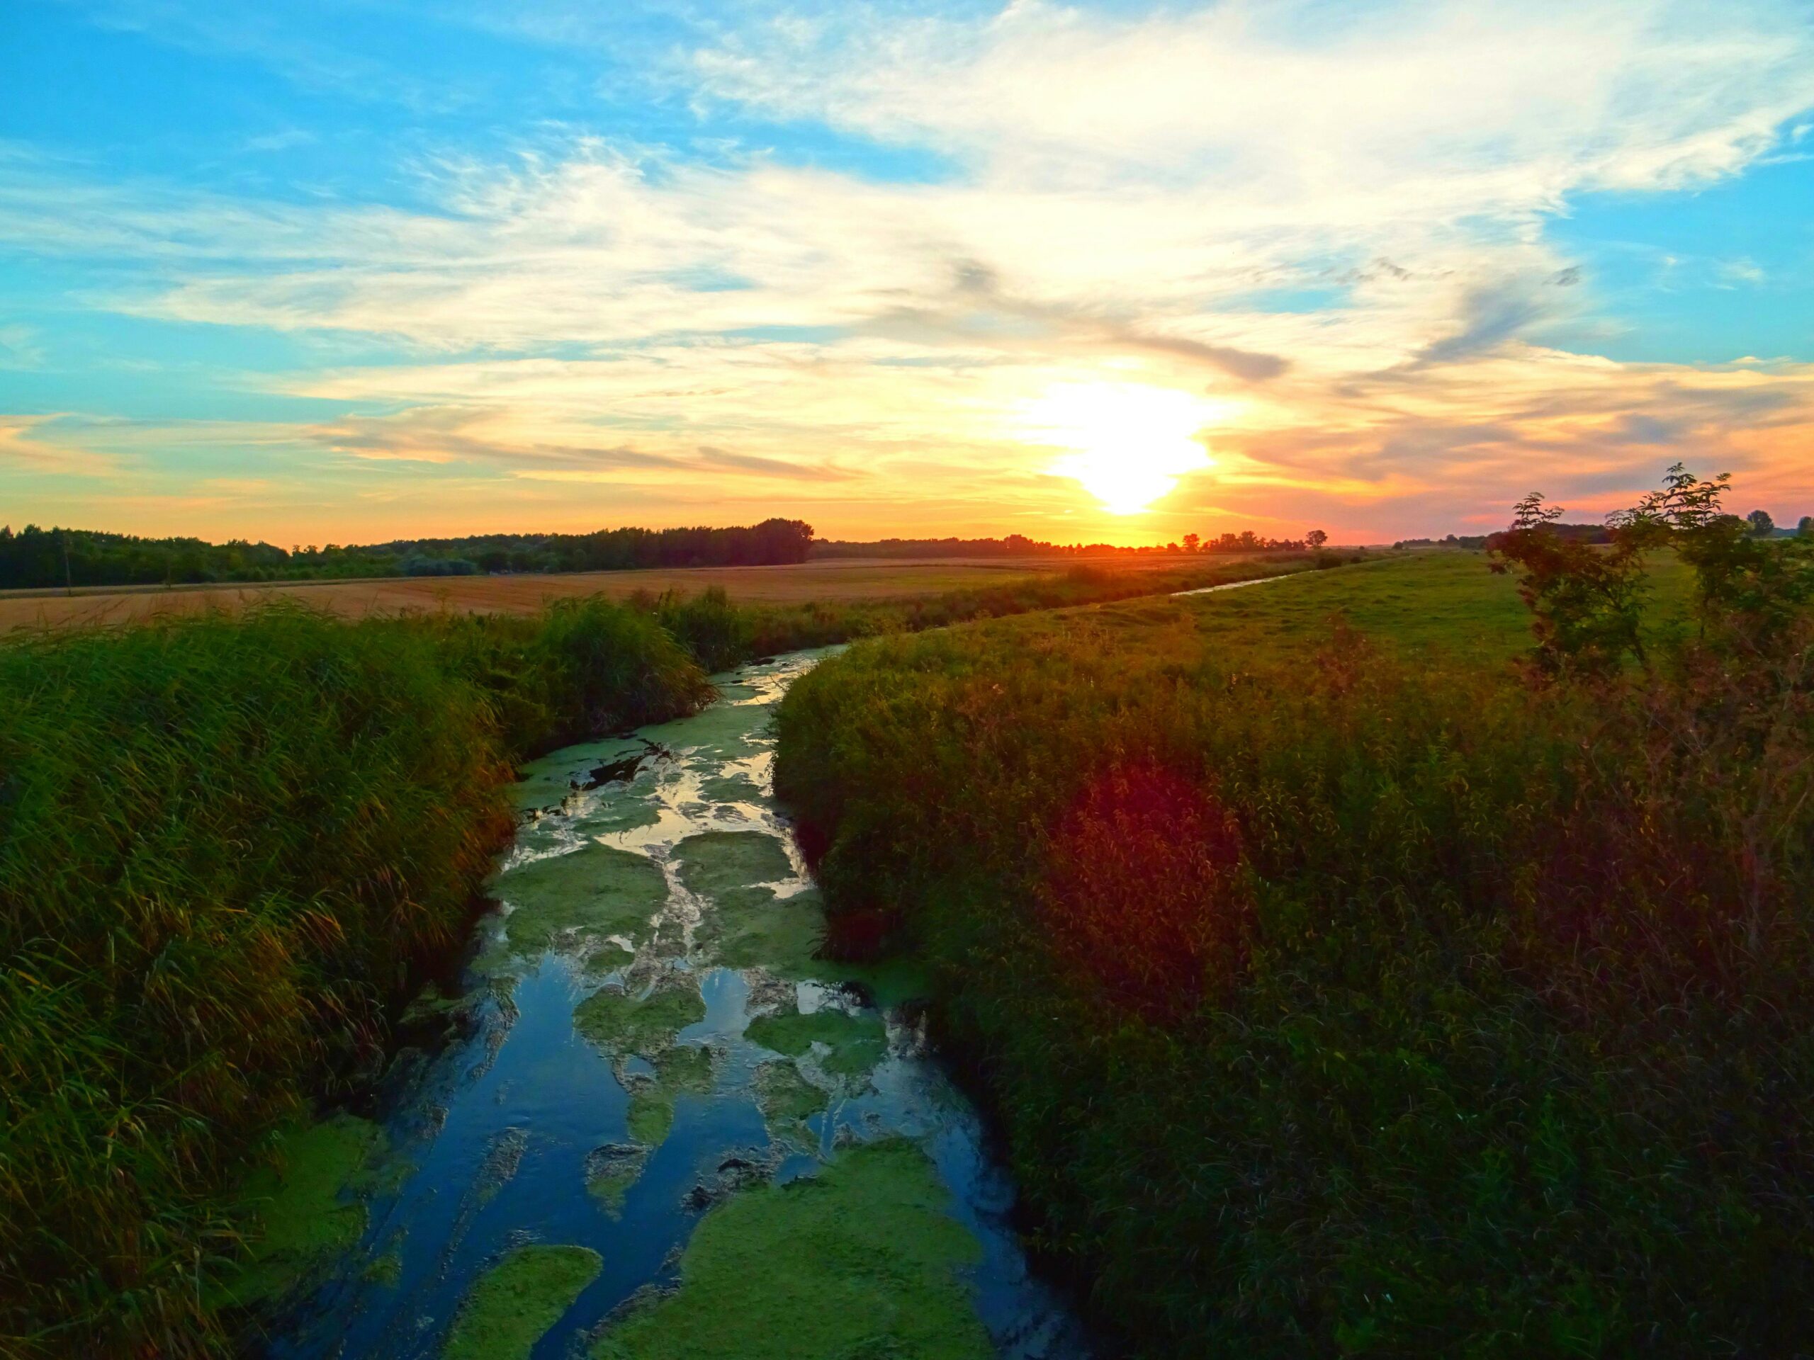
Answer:
[[[1108, 571], [1177, 571], [1239, 557], [1107, 559]], [[833, 559], [791, 566], [675, 568], [660, 571], [586, 571], [521, 577], [390, 577], [381, 580], [305, 580], [268, 586], [180, 586], [131, 589], [0, 591], [0, 631], [20, 626], [122, 624], [138, 618], [243, 609], [290, 598], [346, 618], [394, 613], [535, 613], [551, 600], [604, 595], [613, 600], [639, 591], [660, 595], [724, 589], [749, 604], [804, 604], [927, 597], [1048, 577], [1079, 566], [1078, 559], [961, 560], [931, 559], [871, 562]], [[1090, 566], [1081, 562], [1081, 566]]]

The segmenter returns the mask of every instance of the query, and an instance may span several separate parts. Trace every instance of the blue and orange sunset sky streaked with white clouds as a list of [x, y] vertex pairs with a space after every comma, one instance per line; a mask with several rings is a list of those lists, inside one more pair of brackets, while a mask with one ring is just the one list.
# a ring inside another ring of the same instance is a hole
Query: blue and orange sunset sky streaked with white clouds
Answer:
[[1814, 513], [1814, 5], [5, 0], [0, 522]]

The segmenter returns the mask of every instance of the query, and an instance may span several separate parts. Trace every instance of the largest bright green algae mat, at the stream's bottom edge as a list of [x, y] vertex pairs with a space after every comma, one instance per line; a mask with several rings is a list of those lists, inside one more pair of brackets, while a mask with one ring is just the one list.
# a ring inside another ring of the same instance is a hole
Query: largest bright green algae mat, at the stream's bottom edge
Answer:
[[981, 1258], [907, 1141], [853, 1148], [820, 1175], [707, 1213], [680, 1287], [611, 1327], [593, 1360], [983, 1360], [960, 1269]]

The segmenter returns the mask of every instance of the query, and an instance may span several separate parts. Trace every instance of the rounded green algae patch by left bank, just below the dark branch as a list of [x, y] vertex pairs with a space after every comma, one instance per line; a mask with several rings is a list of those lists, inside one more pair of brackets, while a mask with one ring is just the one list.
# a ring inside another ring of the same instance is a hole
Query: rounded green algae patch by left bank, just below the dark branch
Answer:
[[504, 918], [512, 952], [539, 954], [568, 934], [648, 937], [668, 879], [648, 856], [590, 843], [519, 865], [492, 890], [513, 907]]

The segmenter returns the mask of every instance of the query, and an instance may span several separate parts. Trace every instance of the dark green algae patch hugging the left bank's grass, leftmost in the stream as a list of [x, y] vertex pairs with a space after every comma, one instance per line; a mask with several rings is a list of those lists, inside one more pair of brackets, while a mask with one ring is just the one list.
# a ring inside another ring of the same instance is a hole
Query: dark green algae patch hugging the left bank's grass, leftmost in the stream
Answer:
[[245, 1184], [249, 1258], [218, 1286], [221, 1304], [249, 1306], [288, 1293], [365, 1233], [365, 1204], [348, 1191], [383, 1148], [383, 1132], [356, 1115], [294, 1128], [274, 1166]]

